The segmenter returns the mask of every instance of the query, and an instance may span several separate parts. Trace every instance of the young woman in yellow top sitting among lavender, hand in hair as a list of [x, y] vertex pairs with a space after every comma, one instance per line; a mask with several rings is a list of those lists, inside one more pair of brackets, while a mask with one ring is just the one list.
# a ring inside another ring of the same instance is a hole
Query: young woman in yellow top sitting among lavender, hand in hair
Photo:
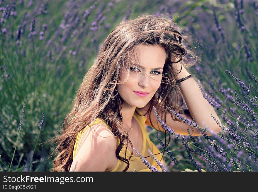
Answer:
[[[208, 127], [208, 135], [220, 131], [211, 114], [219, 121], [218, 116], [184, 68], [187, 53], [197, 57], [183, 39], [171, 20], [154, 15], [123, 21], [108, 35], [62, 124], [53, 171], [150, 171], [133, 147], [160, 170], [148, 149], [163, 163], [162, 152], [145, 127], [165, 132], [153, 107], [176, 133], [188, 135], [190, 127], [201, 135], [167, 105]], [[182, 108], [183, 98], [188, 110]]]

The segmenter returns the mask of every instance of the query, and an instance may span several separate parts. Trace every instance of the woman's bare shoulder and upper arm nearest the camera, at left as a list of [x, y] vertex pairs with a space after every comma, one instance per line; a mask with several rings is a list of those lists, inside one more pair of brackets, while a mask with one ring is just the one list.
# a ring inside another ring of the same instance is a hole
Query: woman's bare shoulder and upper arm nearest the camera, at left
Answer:
[[72, 162], [75, 171], [108, 171], [116, 166], [116, 137], [102, 124], [91, 126], [80, 137], [78, 151]]

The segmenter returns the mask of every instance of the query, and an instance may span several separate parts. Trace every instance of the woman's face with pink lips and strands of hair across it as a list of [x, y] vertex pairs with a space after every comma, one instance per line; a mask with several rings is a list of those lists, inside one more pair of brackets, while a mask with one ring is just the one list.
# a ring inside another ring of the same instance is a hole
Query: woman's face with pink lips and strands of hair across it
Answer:
[[[118, 93], [125, 104], [142, 108], [149, 103], [160, 86], [166, 52], [158, 45], [138, 45], [136, 46], [136, 58], [138, 58], [140, 66], [130, 68], [128, 80], [123, 84], [118, 84]], [[137, 64], [134, 58], [129, 60]], [[121, 80], [126, 78], [127, 70], [124, 70]], [[137, 94], [135, 93], [137, 91], [144, 91], [148, 94]]]

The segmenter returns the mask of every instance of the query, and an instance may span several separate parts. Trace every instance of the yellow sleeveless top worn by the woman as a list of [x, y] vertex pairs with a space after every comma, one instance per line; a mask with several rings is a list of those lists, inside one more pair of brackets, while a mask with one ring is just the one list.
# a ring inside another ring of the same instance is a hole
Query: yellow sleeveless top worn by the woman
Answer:
[[[149, 156], [150, 153], [148, 152], [148, 149], [150, 149], [150, 151], [153, 153], [153, 154], [156, 154], [156, 153], [159, 153], [159, 149], [154, 145], [154, 143], [152, 143], [152, 141], [150, 141], [150, 137], [149, 137], [149, 134], [147, 132], [147, 129], [145, 127], [145, 117], [143, 116], [140, 116], [136, 113], [136, 111], [140, 114], [140, 115], [143, 115], [141, 113], [141, 111], [139, 109], [136, 108], [134, 114], [133, 114], [133, 117], [137, 120], [137, 122], [140, 124], [140, 127], [141, 127], [141, 131], [142, 131], [142, 136], [143, 136], [143, 148], [142, 148], [142, 151], [140, 152], [141, 155], [143, 155], [143, 157], [146, 157], [146, 156]], [[97, 118], [94, 122], [91, 122], [90, 125], [94, 125], [94, 124], [103, 124], [105, 126], [107, 126], [110, 130], [111, 127], [106, 124], [106, 122], [104, 120], [102, 120], [101, 118]], [[75, 144], [74, 144], [74, 149], [73, 149], [73, 160], [74, 160], [74, 157], [78, 151], [78, 143], [79, 143], [79, 140], [80, 140], [80, 137], [81, 135], [83, 134], [83, 132], [89, 127], [89, 125], [87, 125], [84, 129], [82, 129], [78, 134], [77, 134], [77, 138], [76, 138], [76, 141], [75, 141]], [[116, 137], [116, 140], [117, 140], [117, 146], [119, 145], [120, 143], [120, 139]], [[130, 147], [130, 145], [129, 145]], [[128, 147], [128, 148], [129, 148]], [[124, 145], [122, 150], [120, 151], [119, 155], [122, 156], [122, 157], [125, 157], [125, 148], [126, 146]], [[129, 149], [127, 148], [127, 155], [129, 154], [129, 156], [131, 155], [131, 151], [129, 151]], [[161, 161], [161, 163], [163, 164], [163, 159], [162, 159], [162, 153], [158, 154], [158, 155], [155, 155], [156, 158], [158, 160]], [[150, 157], [147, 157], [146, 158], [151, 165], [153, 166], [157, 166], [157, 162], [150, 156]], [[140, 157], [138, 156], [132, 156], [132, 158], [129, 160], [130, 162], [130, 165], [129, 165], [129, 168], [127, 169], [127, 171], [134, 171], [134, 169], [136, 169], [136, 171], [150, 171], [150, 169], [147, 167], [147, 165], [145, 165], [143, 162], [142, 162], [142, 159], [140, 159]], [[116, 164], [116, 167], [111, 170], [111, 171], [123, 171], [123, 169], [127, 166], [127, 164], [121, 160], [118, 159], [118, 162]], [[161, 171], [161, 168], [159, 166], [157, 166], [157, 169], [159, 171]]]

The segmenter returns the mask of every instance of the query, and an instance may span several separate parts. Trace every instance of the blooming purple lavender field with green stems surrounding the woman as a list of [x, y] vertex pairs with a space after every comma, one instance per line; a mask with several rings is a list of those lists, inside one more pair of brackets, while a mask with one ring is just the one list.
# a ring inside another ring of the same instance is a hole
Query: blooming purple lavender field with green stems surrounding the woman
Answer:
[[147, 127], [166, 149], [162, 169], [258, 171], [257, 0], [0, 0], [1, 171], [50, 171], [56, 146], [44, 142], [62, 132], [103, 41], [121, 21], [145, 14], [174, 18], [190, 37], [199, 60], [187, 70], [222, 122], [212, 136], [205, 127], [203, 136], [166, 127], [168, 147]]

